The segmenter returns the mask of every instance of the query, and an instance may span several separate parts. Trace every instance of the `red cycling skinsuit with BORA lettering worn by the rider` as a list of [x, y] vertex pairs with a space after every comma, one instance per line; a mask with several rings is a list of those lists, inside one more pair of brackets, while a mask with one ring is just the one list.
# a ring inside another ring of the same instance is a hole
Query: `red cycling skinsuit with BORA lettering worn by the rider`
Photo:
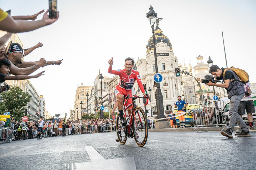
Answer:
[[[142, 93], [145, 92], [143, 84], [141, 82], [140, 74], [138, 71], [132, 70], [132, 73], [130, 75], [127, 75], [125, 69], [112, 70], [112, 67], [109, 67], [108, 73], [119, 75], [119, 77], [120, 77], [119, 84], [116, 85], [116, 87], [115, 87], [116, 91], [117, 91], [116, 96], [119, 93], [123, 94], [124, 96], [127, 96], [127, 94], [130, 94], [130, 96], [132, 96], [131, 91], [132, 91], [132, 87], [135, 82], [135, 79], [137, 80], [137, 83], [141, 89], [141, 92]], [[127, 104], [128, 103], [130, 103], [130, 102], [127, 102]]]

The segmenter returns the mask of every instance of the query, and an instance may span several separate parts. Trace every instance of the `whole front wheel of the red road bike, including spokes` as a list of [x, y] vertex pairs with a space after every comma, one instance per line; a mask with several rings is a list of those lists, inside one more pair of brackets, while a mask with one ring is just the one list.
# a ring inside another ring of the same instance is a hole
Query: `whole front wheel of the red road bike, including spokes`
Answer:
[[[132, 117], [132, 132], [134, 140], [138, 146], [143, 147], [147, 142], [148, 127], [147, 127], [147, 116], [141, 107], [136, 107], [135, 118]], [[140, 122], [140, 119], [142, 122]], [[137, 126], [136, 126], [137, 125]]]

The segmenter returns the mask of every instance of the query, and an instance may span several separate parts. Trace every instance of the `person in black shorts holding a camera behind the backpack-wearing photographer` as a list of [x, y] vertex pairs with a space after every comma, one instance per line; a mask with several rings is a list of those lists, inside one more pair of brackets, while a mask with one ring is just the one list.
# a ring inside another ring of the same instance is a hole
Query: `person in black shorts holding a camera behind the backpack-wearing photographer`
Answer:
[[[252, 94], [252, 91], [251, 91], [251, 88], [250, 88], [250, 83], [246, 83], [244, 84], [244, 90], [246, 91], [245, 92], [245, 95], [244, 95], [244, 99], [251, 99], [251, 94]], [[248, 122], [249, 122], [249, 125], [250, 125], [250, 129], [249, 130], [256, 130], [255, 127], [253, 127], [253, 119], [252, 119], [252, 113], [255, 113], [254, 111], [254, 104], [253, 104], [253, 101], [250, 100], [250, 101], [242, 101], [240, 102], [239, 106], [238, 106], [238, 109], [237, 109], [237, 113], [241, 116], [241, 118], [243, 118], [243, 115], [245, 114], [245, 110], [247, 112], [247, 118], [248, 118]], [[236, 132], [241, 132], [241, 129], [237, 129]]]

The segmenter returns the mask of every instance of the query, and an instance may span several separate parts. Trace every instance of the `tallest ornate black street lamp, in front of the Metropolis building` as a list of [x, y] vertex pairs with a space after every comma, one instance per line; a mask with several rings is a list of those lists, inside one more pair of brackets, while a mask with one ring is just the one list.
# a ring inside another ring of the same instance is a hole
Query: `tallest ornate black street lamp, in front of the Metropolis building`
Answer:
[[[155, 30], [154, 25], [156, 21], [157, 14], [154, 11], [154, 8], [150, 5], [149, 11], [147, 13], [148, 21], [150, 22], [152, 33], [153, 33], [153, 44], [154, 44], [154, 55], [155, 55], [155, 70], [158, 73], [158, 66], [157, 66], [157, 58], [156, 58], [156, 40], [155, 40]], [[157, 107], [157, 116], [156, 118], [164, 118], [164, 102], [163, 102], [163, 95], [160, 89], [160, 84], [156, 83], [156, 107]], [[163, 120], [165, 121], [165, 120]]]

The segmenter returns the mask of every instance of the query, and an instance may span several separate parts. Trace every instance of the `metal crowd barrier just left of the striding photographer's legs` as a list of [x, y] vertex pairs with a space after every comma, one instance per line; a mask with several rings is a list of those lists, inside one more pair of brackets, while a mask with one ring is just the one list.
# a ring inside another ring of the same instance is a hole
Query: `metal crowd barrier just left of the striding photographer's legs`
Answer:
[[[221, 108], [219, 109], [217, 106], [217, 102], [220, 102], [221, 105]], [[194, 131], [197, 128], [201, 129], [200, 127], [224, 126], [223, 129], [227, 127], [226, 116], [225, 113], [222, 112], [222, 110], [224, 110], [224, 107], [225, 106], [223, 100], [195, 105], [193, 119], [194, 126], [196, 128], [194, 129]]]

